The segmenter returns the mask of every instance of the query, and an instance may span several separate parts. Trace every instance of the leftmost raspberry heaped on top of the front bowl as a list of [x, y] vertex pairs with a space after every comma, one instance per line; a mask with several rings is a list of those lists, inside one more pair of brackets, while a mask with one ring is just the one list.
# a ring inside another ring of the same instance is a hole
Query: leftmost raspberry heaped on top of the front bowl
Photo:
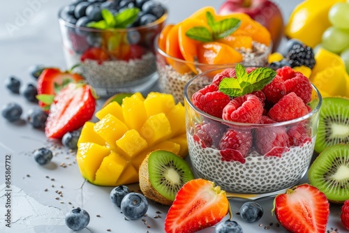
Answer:
[[223, 108], [229, 103], [230, 97], [218, 91], [218, 86], [215, 84], [210, 84], [195, 92], [192, 101], [203, 112], [222, 118]]

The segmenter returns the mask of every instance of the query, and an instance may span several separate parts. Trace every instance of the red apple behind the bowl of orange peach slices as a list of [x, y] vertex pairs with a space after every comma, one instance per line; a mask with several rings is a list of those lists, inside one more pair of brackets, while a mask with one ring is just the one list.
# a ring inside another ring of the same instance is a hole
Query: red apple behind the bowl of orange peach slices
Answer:
[[266, 27], [273, 41], [273, 51], [279, 47], [283, 38], [283, 15], [275, 3], [269, 0], [227, 0], [218, 13], [227, 15], [232, 12], [241, 12], [249, 15], [253, 20]]

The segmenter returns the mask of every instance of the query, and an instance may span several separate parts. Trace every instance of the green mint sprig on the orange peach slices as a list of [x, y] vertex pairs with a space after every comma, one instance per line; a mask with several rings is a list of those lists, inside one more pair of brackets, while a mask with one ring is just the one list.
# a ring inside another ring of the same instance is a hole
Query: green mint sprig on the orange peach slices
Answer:
[[241, 20], [236, 18], [229, 18], [215, 22], [214, 16], [209, 12], [206, 13], [206, 18], [211, 31], [206, 27], [193, 27], [186, 31], [186, 36], [194, 40], [210, 42], [229, 36], [231, 33], [239, 29], [241, 24]]

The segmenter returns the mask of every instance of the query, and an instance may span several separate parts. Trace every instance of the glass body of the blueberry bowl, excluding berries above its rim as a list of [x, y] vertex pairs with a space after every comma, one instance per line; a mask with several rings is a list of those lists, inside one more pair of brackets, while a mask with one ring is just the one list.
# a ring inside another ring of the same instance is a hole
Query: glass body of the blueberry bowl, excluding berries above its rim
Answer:
[[127, 29], [76, 27], [62, 17], [59, 27], [68, 69], [81, 73], [98, 96], [147, 91], [157, 81], [154, 40], [168, 11], [155, 22]]

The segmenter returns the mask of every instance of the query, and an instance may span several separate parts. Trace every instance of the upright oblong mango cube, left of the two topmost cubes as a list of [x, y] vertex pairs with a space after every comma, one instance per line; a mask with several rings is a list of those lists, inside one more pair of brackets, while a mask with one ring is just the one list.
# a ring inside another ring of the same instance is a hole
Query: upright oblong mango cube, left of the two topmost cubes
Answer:
[[[142, 96], [142, 95], [141, 95]], [[144, 107], [144, 98], [141, 99], [138, 93], [124, 98], [122, 101], [122, 114], [128, 128], [139, 130], [147, 120], [147, 112]]]

